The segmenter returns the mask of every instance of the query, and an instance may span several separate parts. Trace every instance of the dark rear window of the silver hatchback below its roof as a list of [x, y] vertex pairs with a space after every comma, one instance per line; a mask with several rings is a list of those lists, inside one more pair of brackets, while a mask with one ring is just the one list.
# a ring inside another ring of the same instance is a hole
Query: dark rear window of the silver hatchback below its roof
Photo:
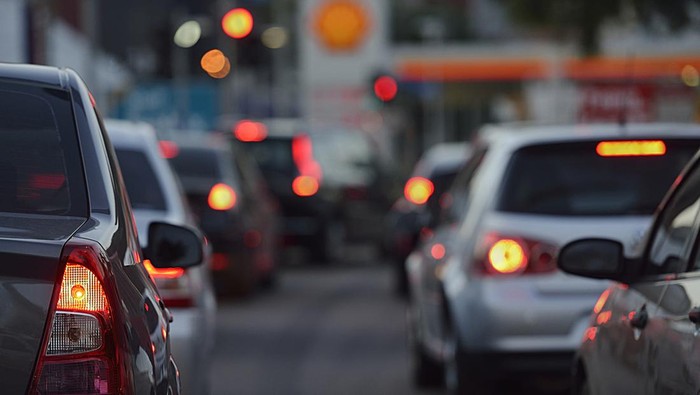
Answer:
[[698, 141], [666, 140], [661, 156], [603, 157], [598, 142], [537, 145], [517, 151], [497, 208], [546, 215], [649, 215]]

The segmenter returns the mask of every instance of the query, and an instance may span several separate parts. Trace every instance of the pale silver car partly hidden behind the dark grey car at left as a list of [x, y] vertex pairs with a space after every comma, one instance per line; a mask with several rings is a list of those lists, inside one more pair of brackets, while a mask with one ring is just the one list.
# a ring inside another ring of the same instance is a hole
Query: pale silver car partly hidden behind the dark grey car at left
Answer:
[[[196, 228], [179, 181], [161, 155], [153, 126], [114, 119], [106, 120], [105, 126], [117, 154], [141, 246], [146, 247], [148, 227], [156, 221]], [[214, 348], [216, 298], [210, 254], [202, 258], [200, 265], [186, 270], [158, 269], [145, 262], [173, 315], [170, 346], [181, 373], [182, 392], [188, 394], [208, 393]]]

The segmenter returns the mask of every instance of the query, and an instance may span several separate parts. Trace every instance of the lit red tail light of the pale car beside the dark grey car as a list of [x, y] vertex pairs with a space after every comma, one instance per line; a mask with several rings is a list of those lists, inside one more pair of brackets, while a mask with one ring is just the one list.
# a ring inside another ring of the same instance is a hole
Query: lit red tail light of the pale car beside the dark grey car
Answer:
[[166, 307], [192, 307], [192, 284], [187, 271], [182, 268], [157, 268], [150, 260], [143, 265], [156, 283], [163, 303]]

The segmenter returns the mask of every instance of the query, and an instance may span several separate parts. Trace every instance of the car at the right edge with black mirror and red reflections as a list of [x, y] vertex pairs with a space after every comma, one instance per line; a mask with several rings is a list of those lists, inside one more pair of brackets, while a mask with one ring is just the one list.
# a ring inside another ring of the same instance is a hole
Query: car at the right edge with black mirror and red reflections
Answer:
[[591, 233], [565, 245], [559, 267], [613, 280], [593, 305], [573, 363], [576, 394], [700, 391], [700, 156], [674, 181], [638, 248]]

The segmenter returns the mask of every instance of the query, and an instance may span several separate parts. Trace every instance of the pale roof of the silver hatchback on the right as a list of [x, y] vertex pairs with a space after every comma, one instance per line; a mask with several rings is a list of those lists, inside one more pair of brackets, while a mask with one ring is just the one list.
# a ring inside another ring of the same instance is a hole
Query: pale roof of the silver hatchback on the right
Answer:
[[476, 142], [509, 146], [596, 139], [700, 138], [700, 126], [687, 123], [568, 124], [513, 123], [486, 125]]

